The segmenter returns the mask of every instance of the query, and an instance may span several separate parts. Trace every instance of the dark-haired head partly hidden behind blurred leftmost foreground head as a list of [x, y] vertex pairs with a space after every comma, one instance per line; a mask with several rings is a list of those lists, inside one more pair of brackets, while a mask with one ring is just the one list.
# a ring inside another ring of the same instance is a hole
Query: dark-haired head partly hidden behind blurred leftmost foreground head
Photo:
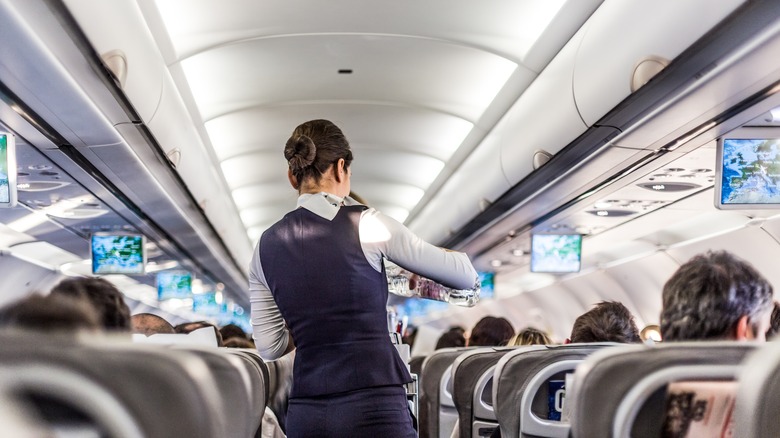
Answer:
[[97, 310], [106, 330], [130, 331], [130, 308], [122, 292], [102, 278], [68, 278], [51, 290], [52, 295], [85, 298]]

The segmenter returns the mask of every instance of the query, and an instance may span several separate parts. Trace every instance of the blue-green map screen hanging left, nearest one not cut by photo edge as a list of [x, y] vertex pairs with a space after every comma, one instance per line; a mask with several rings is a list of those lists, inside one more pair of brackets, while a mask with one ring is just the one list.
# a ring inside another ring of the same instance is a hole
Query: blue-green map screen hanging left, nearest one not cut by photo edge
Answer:
[[144, 241], [144, 236], [139, 234], [93, 234], [92, 273], [143, 274]]

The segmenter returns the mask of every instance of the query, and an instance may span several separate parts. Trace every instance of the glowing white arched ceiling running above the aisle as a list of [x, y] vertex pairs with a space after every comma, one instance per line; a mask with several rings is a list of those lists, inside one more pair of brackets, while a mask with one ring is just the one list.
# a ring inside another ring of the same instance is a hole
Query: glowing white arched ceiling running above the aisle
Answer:
[[469, 134], [492, 129], [507, 81], [531, 83], [599, 3], [138, 0], [252, 241], [294, 208], [295, 126], [339, 125], [353, 190], [404, 221]]

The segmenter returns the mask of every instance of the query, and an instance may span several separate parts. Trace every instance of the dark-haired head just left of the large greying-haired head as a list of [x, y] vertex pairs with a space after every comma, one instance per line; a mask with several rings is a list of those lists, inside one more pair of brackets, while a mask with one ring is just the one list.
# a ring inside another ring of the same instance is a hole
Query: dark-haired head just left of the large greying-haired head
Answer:
[[640, 342], [634, 317], [626, 306], [602, 301], [580, 315], [571, 329], [568, 342]]

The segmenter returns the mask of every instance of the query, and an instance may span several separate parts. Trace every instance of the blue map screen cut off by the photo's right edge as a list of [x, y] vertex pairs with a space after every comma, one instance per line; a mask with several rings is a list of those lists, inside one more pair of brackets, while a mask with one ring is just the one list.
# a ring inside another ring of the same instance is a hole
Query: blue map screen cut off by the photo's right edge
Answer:
[[720, 204], [780, 204], [780, 139], [723, 140]]

